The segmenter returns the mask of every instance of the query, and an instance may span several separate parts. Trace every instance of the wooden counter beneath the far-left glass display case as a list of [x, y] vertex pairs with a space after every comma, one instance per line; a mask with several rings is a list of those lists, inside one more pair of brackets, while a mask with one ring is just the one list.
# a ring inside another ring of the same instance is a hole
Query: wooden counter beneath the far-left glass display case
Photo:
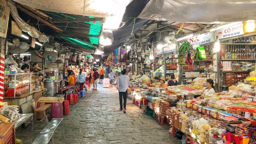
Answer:
[[26, 92], [16, 97], [4, 97], [4, 102], [7, 102], [8, 105], [19, 106], [20, 113], [34, 113], [36, 102], [42, 97], [43, 90], [44, 89]]

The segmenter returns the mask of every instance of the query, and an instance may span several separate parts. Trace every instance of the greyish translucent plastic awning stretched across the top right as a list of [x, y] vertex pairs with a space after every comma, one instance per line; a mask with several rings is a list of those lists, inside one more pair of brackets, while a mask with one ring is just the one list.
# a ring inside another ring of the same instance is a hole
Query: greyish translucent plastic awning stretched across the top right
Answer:
[[150, 0], [139, 18], [193, 23], [256, 19], [255, 0]]

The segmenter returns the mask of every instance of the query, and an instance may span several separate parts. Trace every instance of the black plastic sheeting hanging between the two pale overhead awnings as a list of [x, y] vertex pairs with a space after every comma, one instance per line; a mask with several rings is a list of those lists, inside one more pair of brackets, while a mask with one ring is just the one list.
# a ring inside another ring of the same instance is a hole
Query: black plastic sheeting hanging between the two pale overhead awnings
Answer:
[[131, 37], [131, 35], [135, 34], [137, 30], [139, 30], [143, 25], [145, 25], [149, 21], [145, 19], [136, 18], [133, 27], [133, 18], [138, 17], [138, 15], [146, 6], [147, 2], [148, 0], [134, 0], [126, 7], [122, 22], [127, 22], [123, 27], [113, 31], [114, 41], [112, 42], [112, 45], [104, 46], [104, 55], [102, 55], [103, 57], [108, 56], [114, 50], [120, 47], [128, 38]]

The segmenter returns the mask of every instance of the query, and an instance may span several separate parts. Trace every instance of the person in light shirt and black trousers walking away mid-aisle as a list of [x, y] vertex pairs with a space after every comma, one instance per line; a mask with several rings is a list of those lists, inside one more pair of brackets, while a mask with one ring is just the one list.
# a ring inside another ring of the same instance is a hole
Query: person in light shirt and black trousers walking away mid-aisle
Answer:
[[[120, 111], [124, 111], [126, 113], [126, 99], [127, 99], [127, 89], [130, 85], [130, 78], [126, 75], [126, 69], [122, 69], [122, 75], [117, 78], [116, 84], [119, 84], [119, 102], [120, 102]], [[123, 108], [123, 100], [124, 99], [124, 108]]]

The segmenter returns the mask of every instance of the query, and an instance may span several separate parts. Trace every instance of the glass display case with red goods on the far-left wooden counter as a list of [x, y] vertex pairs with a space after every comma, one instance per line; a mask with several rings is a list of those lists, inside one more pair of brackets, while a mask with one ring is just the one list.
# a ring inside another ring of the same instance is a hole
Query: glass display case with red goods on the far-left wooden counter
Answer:
[[30, 91], [31, 73], [4, 75], [4, 96], [15, 97]]

